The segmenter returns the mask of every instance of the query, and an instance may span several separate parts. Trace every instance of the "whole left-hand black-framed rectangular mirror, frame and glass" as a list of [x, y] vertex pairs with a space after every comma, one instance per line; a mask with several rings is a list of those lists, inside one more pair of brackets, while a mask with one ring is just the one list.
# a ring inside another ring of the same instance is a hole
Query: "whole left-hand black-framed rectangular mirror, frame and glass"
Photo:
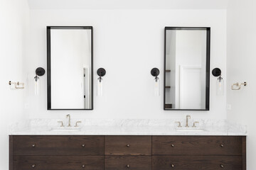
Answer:
[[92, 27], [47, 27], [48, 110], [92, 110]]

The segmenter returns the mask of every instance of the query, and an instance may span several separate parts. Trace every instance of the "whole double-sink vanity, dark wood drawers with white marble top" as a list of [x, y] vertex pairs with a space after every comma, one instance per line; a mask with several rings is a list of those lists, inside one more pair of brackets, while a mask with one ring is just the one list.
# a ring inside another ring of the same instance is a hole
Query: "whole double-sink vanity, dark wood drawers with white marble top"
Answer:
[[12, 126], [9, 170], [246, 170], [246, 127], [226, 120], [59, 120]]

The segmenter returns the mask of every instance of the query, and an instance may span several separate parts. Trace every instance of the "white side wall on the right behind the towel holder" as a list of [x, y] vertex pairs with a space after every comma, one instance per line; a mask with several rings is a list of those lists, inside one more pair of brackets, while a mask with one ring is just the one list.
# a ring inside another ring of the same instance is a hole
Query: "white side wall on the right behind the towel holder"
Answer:
[[[228, 8], [228, 120], [247, 125], [247, 169], [255, 169], [256, 158], [256, 1], [230, 1]], [[232, 91], [236, 82], [247, 81], [240, 91]]]

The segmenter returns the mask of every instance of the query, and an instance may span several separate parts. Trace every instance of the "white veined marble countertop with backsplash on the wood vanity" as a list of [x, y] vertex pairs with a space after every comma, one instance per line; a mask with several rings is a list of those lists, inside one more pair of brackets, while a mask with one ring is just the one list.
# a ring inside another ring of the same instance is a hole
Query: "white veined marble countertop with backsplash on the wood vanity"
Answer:
[[[245, 125], [229, 123], [227, 120], [189, 120], [190, 130], [178, 131], [180, 121], [184, 128], [186, 120], [149, 120], [149, 119], [85, 119], [71, 120], [74, 126], [79, 123], [79, 130], [56, 130], [63, 121], [61, 119], [33, 119], [26, 123], [14, 123], [10, 126], [9, 135], [247, 135]], [[193, 122], [198, 121], [197, 128], [192, 128]], [[203, 129], [203, 131], [197, 130]]]

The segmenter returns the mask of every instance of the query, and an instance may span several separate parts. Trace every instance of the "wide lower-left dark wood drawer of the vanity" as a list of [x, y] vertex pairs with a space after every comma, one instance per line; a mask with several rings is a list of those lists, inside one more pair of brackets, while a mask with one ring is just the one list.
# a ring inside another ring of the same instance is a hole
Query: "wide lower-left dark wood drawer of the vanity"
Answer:
[[14, 170], [104, 170], [103, 156], [14, 156]]

